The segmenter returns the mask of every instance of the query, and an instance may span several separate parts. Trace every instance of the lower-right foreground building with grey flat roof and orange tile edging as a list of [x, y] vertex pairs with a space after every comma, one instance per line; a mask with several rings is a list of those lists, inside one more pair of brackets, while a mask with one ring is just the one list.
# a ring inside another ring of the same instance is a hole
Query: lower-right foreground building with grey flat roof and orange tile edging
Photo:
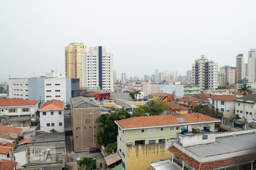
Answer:
[[166, 148], [172, 153], [171, 161], [157, 168], [254, 169], [255, 140], [255, 129], [220, 134], [211, 131], [178, 133], [175, 141], [166, 143]]

